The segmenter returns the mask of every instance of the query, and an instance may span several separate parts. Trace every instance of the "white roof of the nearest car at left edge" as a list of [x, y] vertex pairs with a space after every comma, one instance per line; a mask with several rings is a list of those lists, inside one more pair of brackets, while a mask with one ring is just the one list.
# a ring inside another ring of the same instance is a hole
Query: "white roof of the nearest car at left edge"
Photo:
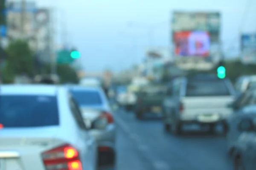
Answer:
[[58, 87], [58, 85], [1, 85], [0, 94], [56, 96]]

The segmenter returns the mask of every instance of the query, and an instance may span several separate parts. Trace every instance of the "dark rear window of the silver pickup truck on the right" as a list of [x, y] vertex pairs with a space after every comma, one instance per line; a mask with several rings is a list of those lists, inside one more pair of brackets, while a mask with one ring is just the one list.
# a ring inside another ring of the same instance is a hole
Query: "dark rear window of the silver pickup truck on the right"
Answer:
[[229, 88], [224, 80], [190, 80], [186, 96], [228, 96]]

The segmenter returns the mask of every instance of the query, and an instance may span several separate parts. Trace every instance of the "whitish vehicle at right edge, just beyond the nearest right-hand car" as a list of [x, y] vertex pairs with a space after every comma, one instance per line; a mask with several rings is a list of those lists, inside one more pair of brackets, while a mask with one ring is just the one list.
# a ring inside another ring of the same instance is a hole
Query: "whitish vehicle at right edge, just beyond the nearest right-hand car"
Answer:
[[235, 89], [238, 93], [243, 93], [251, 86], [256, 86], [256, 76], [242, 76], [236, 80]]

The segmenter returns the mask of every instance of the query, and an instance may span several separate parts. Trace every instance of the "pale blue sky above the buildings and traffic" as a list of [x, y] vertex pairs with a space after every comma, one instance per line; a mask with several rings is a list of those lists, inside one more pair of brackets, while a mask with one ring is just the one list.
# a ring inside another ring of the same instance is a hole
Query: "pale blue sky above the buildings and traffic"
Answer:
[[[57, 7], [58, 27], [67, 23], [68, 38], [81, 51], [81, 62], [89, 71], [115, 71], [141, 62], [148, 47], [147, 24], [155, 25], [154, 45], [170, 45], [173, 10], [220, 11], [221, 39], [228, 55], [238, 55], [239, 30], [256, 31], [253, 20], [256, 1], [248, 0], [37, 0], [38, 6]], [[64, 18], [65, 17], [65, 18]], [[56, 20], [57, 21], [57, 20]], [[129, 21], [145, 23], [128, 27]], [[154, 23], [159, 23], [154, 24]], [[240, 27], [242, 23], [242, 27]], [[60, 31], [58, 30], [58, 41]]]

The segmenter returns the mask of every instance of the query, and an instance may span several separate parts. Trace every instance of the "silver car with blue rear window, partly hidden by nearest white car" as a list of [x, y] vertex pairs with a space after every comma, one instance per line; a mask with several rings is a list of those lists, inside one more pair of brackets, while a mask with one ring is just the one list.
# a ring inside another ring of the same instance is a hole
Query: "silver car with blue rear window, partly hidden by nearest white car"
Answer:
[[101, 88], [70, 86], [70, 93], [77, 101], [90, 134], [99, 148], [99, 165], [115, 164], [116, 126], [108, 99]]

